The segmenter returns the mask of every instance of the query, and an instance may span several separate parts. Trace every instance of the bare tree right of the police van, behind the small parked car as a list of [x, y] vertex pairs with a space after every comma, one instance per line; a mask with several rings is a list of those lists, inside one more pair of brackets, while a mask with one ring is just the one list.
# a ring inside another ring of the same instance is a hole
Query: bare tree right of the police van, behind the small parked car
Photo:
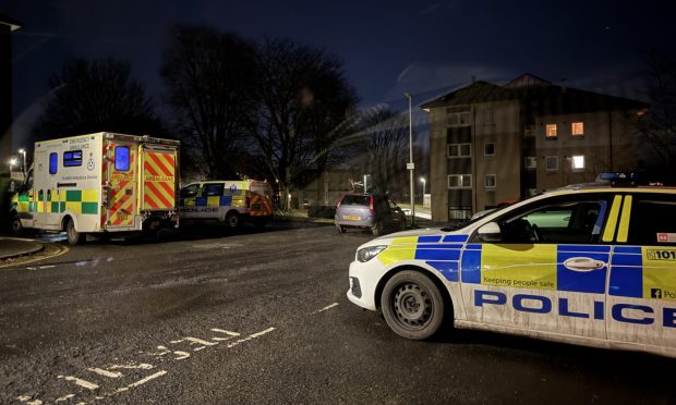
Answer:
[[268, 173], [287, 195], [309, 170], [321, 173], [329, 164], [358, 99], [342, 62], [324, 49], [266, 39], [257, 61], [258, 105], [250, 114], [251, 134]]

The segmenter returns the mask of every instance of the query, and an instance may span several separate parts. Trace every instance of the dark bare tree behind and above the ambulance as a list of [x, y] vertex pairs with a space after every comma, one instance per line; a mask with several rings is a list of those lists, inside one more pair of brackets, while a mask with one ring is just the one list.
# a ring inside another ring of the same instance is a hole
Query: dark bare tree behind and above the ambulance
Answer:
[[49, 79], [52, 98], [33, 128], [36, 139], [100, 131], [164, 133], [153, 101], [128, 63], [75, 59]]

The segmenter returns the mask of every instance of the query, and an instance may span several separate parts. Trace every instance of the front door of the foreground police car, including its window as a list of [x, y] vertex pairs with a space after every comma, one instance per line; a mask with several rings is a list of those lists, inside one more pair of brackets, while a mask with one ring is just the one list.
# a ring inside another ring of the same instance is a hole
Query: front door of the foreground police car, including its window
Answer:
[[565, 195], [510, 210], [482, 229], [461, 261], [468, 320], [520, 331], [605, 339], [608, 201]]

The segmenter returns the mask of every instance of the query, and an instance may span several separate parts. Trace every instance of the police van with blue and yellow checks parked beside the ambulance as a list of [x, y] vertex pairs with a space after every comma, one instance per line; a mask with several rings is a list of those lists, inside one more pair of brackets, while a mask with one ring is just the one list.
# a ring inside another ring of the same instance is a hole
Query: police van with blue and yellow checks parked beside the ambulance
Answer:
[[275, 213], [273, 188], [255, 180], [212, 180], [181, 188], [180, 217], [188, 222], [217, 221], [229, 228], [243, 222], [265, 226]]

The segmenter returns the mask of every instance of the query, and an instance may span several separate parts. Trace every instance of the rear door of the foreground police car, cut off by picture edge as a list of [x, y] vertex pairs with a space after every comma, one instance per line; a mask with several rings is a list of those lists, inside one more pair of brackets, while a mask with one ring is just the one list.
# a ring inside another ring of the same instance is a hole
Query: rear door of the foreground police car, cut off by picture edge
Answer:
[[[676, 349], [676, 195], [625, 195], [615, 232], [608, 340]], [[613, 235], [611, 234], [611, 237]]]

